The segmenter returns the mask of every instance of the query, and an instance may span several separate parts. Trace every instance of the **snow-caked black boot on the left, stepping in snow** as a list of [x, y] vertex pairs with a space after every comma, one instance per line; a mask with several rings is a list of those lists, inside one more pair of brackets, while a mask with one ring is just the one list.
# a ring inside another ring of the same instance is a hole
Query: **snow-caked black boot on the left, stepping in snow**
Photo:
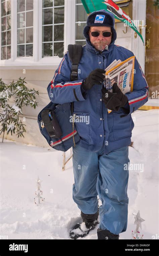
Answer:
[[[70, 231], [69, 236], [72, 239], [77, 239], [78, 237], [85, 237], [88, 233], [93, 230], [98, 222], [99, 216], [99, 207], [98, 211], [95, 214], [85, 214], [81, 211], [81, 217], [83, 219], [83, 223], [77, 223]], [[86, 226], [86, 227], [85, 227]]]

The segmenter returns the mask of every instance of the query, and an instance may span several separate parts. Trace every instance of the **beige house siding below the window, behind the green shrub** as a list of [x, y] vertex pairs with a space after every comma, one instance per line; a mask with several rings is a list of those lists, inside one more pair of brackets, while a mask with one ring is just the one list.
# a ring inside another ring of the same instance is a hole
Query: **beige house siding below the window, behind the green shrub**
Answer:
[[[23, 116], [25, 117], [25, 122], [26, 124], [26, 133], [24, 133], [24, 138], [19, 137], [15, 134], [11, 136], [9, 133], [6, 135], [5, 132], [5, 138], [7, 139], [12, 139], [18, 142], [23, 142], [27, 144], [33, 144], [36, 146], [41, 146], [41, 147], [49, 147], [47, 141], [45, 138], [41, 135], [39, 126], [37, 123], [37, 116], [40, 112], [40, 110], [50, 102], [50, 99], [48, 97], [47, 93], [47, 86], [50, 83], [50, 81], [53, 78], [54, 71], [52, 70], [34, 70], [34, 69], [26, 69], [26, 73], [23, 74], [22, 70], [1, 70], [0, 72], [0, 77], [2, 77], [2, 80], [5, 84], [8, 84], [12, 82], [13, 80], [16, 81], [18, 80], [19, 77], [24, 78], [25, 77], [25, 82], [27, 82], [26, 86], [30, 89], [35, 89], [36, 91], [39, 91], [39, 96], [36, 96], [36, 99], [38, 101], [38, 107], [34, 109], [33, 107], [30, 106], [25, 106], [23, 107]], [[10, 101], [12, 104], [13, 101]], [[2, 137], [3, 134], [0, 135]]]

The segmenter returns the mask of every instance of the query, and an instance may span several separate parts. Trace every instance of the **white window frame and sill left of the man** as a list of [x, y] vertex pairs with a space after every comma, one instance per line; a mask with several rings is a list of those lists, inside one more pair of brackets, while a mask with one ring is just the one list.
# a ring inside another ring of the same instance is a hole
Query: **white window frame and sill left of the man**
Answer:
[[[1, 8], [1, 7], [0, 7]], [[0, 9], [1, 11], [1, 9]], [[0, 12], [1, 13], [1, 12]], [[65, 0], [64, 6], [64, 53], [68, 44], [75, 43], [75, 1]], [[0, 60], [1, 69], [56, 69], [62, 58], [42, 58], [42, 0], [34, 0], [33, 7], [33, 57], [17, 56], [17, 0], [11, 1], [11, 59]], [[38, 36], [37, 36], [38, 31]], [[0, 19], [1, 43], [1, 19]], [[0, 44], [1, 45], [1, 44]], [[1, 47], [0, 47], [1, 48]], [[63, 54], [64, 54], [63, 53]], [[1, 54], [1, 49], [0, 49]], [[1, 55], [0, 55], [1, 59]]]

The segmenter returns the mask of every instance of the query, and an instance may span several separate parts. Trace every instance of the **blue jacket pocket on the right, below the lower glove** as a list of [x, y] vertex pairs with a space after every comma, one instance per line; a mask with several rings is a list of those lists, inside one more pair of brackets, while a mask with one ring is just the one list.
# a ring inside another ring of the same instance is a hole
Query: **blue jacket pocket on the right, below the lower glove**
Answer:
[[[121, 118], [122, 116], [122, 118]], [[134, 122], [131, 115], [124, 116], [122, 113], [113, 113], [113, 137], [114, 140], [122, 139], [125, 137], [131, 137], [132, 130], [134, 128]]]

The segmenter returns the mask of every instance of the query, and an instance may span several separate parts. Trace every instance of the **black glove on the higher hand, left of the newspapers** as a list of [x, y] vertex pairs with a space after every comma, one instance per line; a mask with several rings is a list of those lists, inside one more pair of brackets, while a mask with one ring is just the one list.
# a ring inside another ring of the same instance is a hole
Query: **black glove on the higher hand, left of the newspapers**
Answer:
[[101, 85], [105, 78], [105, 70], [97, 68], [93, 70], [89, 76], [83, 81], [82, 87], [84, 90], [91, 89], [95, 84]]

